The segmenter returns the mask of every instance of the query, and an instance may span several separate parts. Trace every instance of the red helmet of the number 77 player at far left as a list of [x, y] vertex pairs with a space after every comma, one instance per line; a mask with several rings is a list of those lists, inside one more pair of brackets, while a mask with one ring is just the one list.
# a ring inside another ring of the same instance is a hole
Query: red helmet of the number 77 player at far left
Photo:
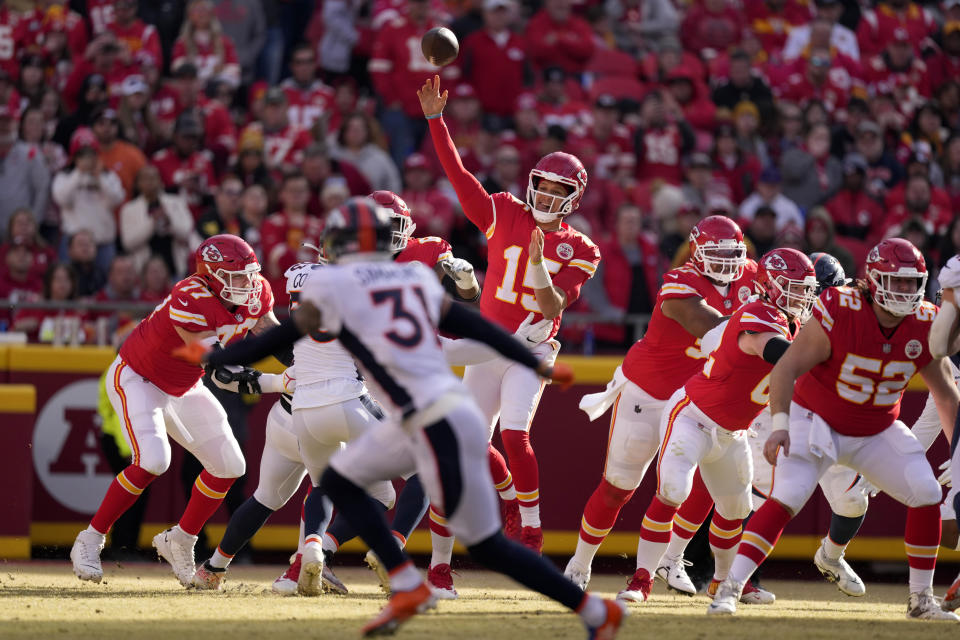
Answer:
[[222, 233], [197, 247], [197, 275], [210, 289], [231, 304], [260, 310], [260, 262], [242, 238]]

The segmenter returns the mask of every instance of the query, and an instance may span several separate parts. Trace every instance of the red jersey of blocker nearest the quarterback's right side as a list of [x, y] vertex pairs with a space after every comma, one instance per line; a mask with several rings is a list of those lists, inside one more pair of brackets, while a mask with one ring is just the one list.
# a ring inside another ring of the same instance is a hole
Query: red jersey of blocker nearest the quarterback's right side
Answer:
[[666, 400], [703, 367], [706, 353], [700, 351], [700, 339], [694, 338], [676, 320], [663, 314], [665, 300], [703, 298], [722, 314], [733, 313], [753, 294], [757, 263], [747, 261], [739, 280], [718, 288], [690, 264], [667, 272], [657, 293], [650, 325], [623, 360], [623, 374], [658, 400]]

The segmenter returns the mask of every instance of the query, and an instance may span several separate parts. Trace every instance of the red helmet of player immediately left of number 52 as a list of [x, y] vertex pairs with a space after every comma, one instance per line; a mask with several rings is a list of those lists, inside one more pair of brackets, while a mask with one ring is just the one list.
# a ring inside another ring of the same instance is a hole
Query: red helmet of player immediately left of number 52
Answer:
[[774, 249], [760, 258], [754, 286], [790, 320], [802, 322], [817, 299], [817, 284], [810, 258], [796, 249]]

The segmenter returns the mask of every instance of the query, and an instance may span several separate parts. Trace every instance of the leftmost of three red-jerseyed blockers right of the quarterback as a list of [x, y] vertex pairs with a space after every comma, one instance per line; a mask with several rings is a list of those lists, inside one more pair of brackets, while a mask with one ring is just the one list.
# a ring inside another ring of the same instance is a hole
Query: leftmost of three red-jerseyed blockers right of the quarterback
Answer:
[[[743, 232], [729, 218], [709, 216], [697, 223], [690, 232], [690, 256], [664, 276], [646, 335], [627, 352], [606, 391], [580, 402], [591, 420], [613, 406], [603, 479], [584, 507], [577, 551], [566, 569], [567, 577], [584, 587], [597, 549], [657, 454], [667, 399], [703, 368], [707, 354], [700, 338], [754, 291], [756, 263], [747, 258]], [[690, 511], [687, 504], [680, 510], [667, 550], [666, 559], [675, 561], [658, 567], [657, 574], [671, 588], [692, 595], [696, 589], [682, 555], [712, 505], [702, 483], [688, 503]]]

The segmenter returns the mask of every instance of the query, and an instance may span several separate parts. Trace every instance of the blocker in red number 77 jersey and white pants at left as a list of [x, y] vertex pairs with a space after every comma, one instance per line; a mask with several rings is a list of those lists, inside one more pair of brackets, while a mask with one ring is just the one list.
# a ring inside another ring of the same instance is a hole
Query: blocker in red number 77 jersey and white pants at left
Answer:
[[[137, 325], [107, 370], [107, 395], [124, 424], [133, 461], [110, 484], [90, 526], [77, 535], [70, 559], [81, 580], [103, 579], [104, 538], [170, 466], [169, 438], [203, 465], [179, 524], [153, 539], [184, 586], [193, 579], [197, 533], [245, 471], [227, 415], [203, 385], [203, 369], [170, 354], [184, 343], [227, 345], [278, 324], [273, 294], [253, 249], [236, 236], [208, 238], [197, 248], [196, 262], [197, 272], [178, 282]], [[214, 371], [211, 379], [228, 390], [238, 385], [226, 370]]]

